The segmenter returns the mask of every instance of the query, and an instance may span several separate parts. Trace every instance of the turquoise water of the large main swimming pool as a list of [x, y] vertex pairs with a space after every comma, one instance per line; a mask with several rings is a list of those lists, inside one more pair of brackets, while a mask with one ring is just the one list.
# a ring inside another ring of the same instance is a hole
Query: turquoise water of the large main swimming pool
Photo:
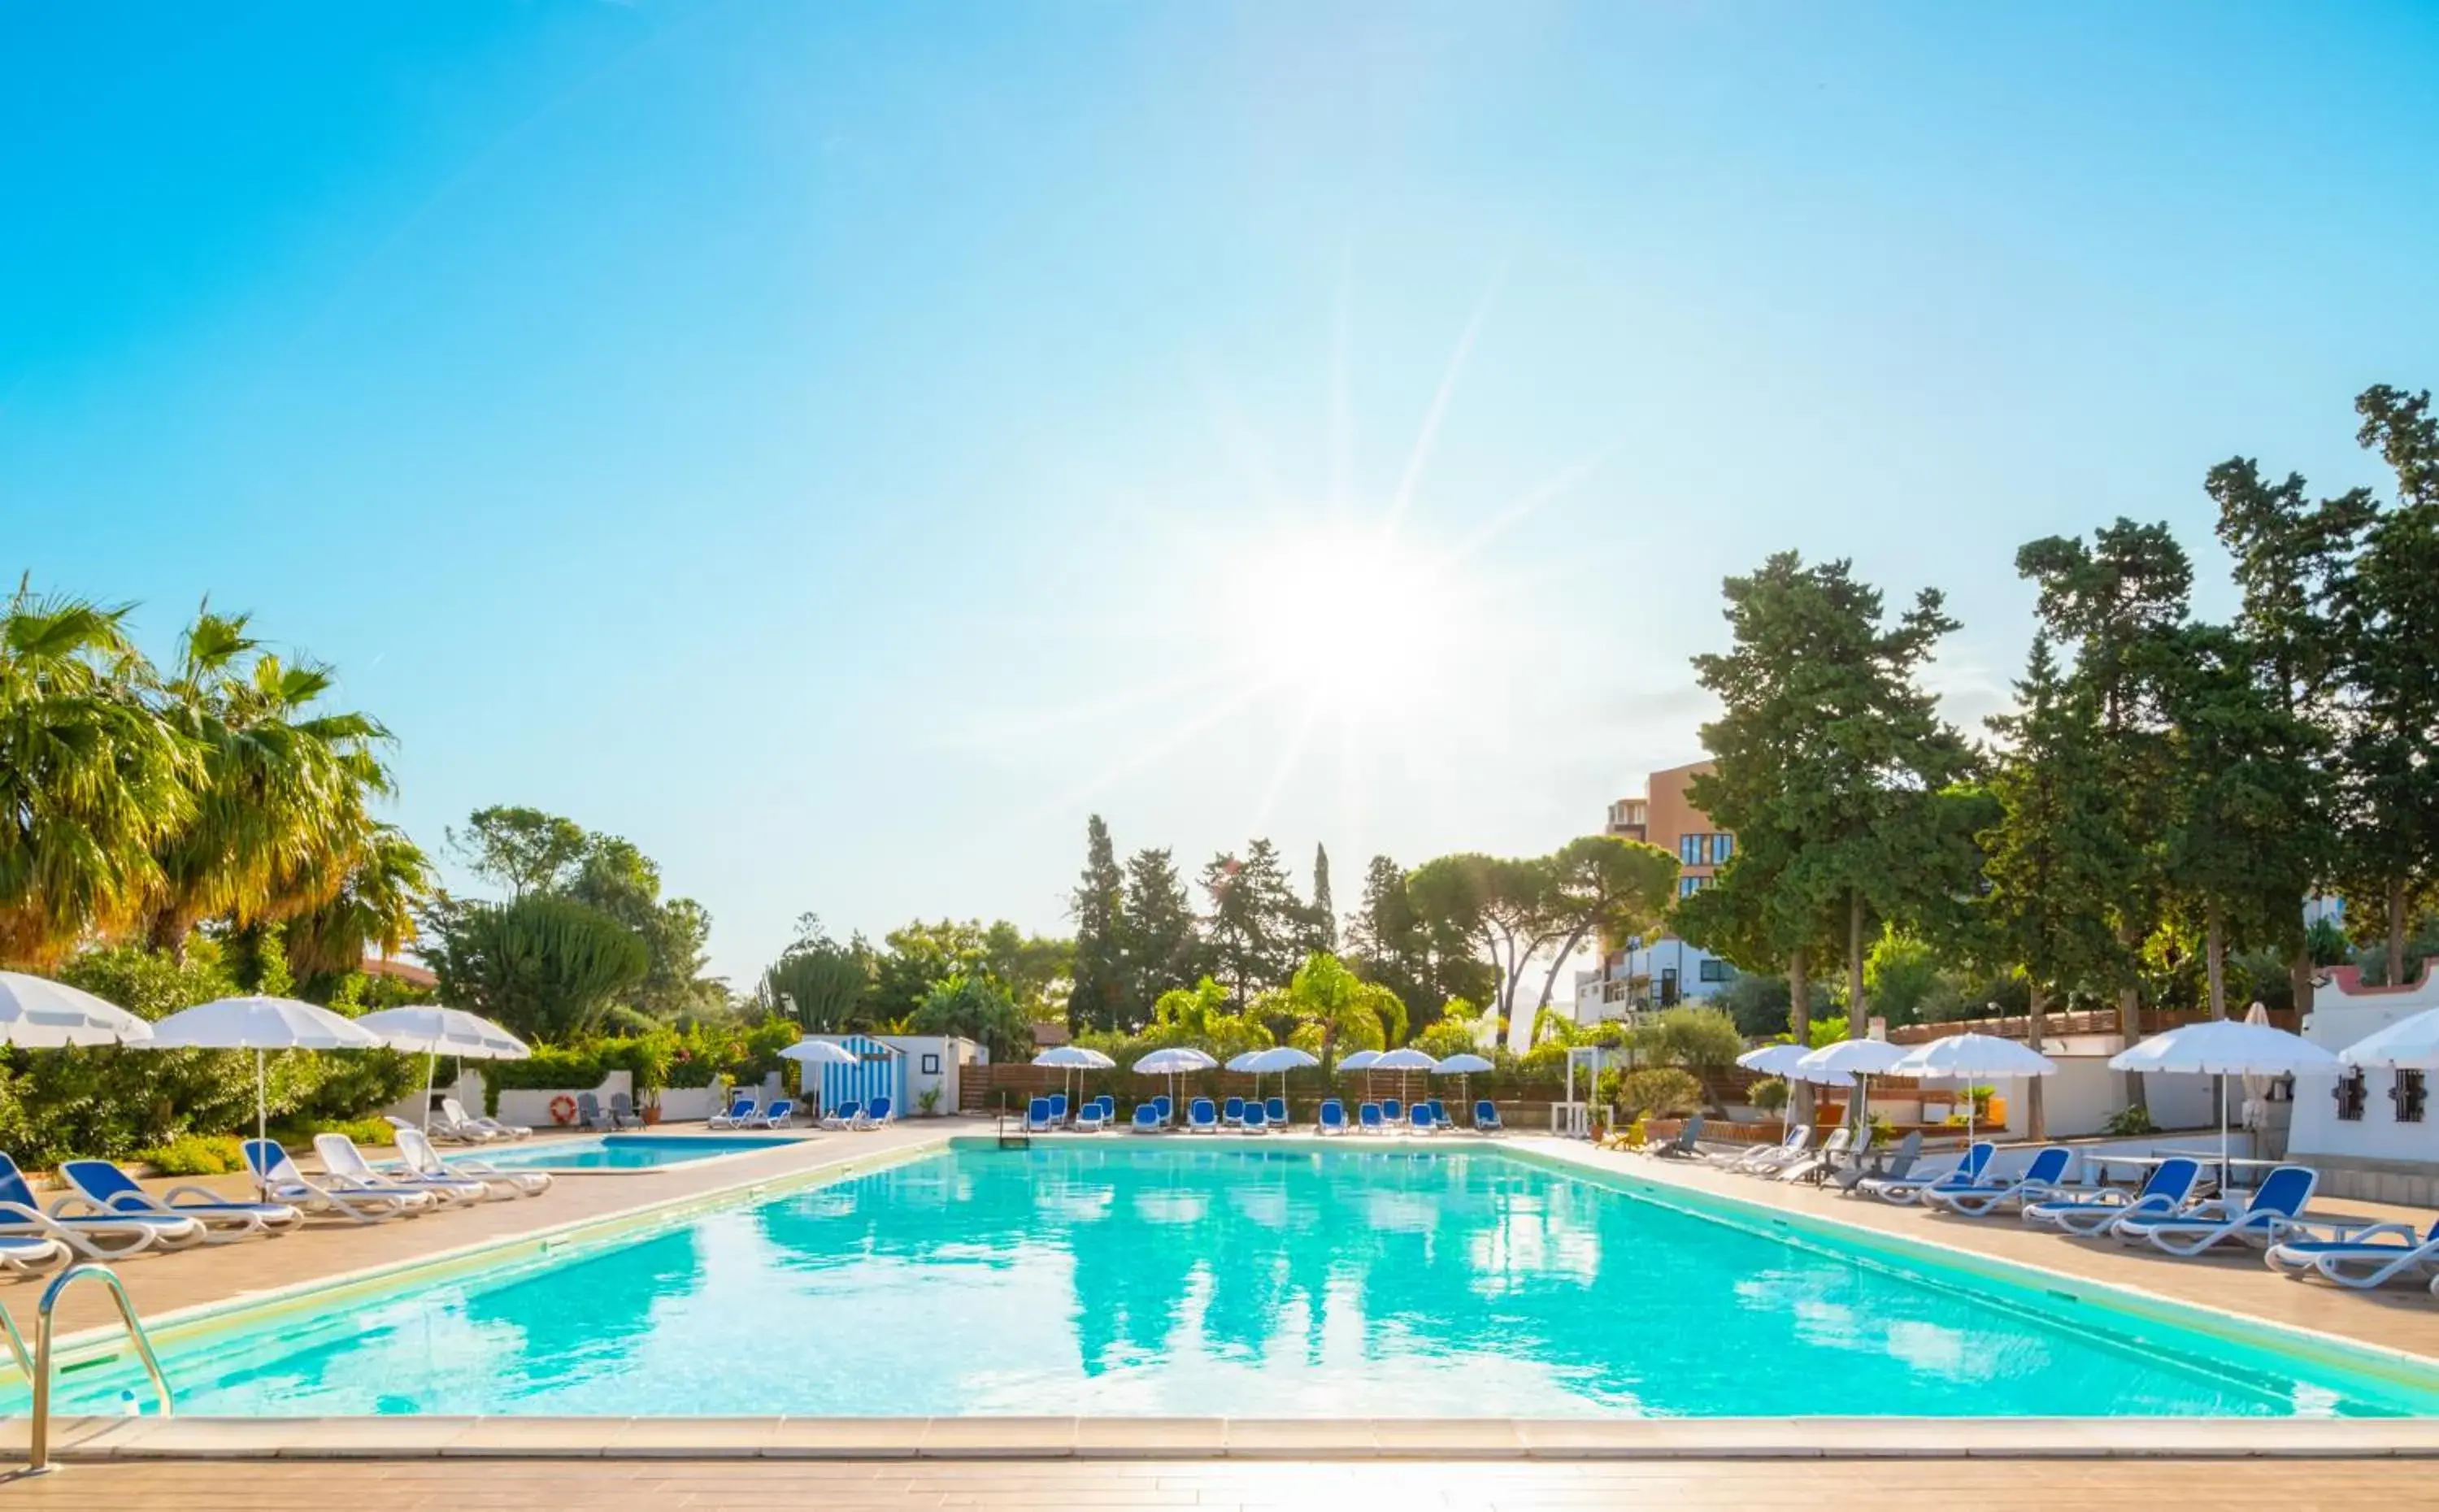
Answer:
[[[171, 1351], [205, 1414], [2139, 1417], [2434, 1400], [1495, 1151], [954, 1149]], [[444, 1219], [432, 1219], [444, 1222]], [[78, 1371], [71, 1410], [129, 1373]]]

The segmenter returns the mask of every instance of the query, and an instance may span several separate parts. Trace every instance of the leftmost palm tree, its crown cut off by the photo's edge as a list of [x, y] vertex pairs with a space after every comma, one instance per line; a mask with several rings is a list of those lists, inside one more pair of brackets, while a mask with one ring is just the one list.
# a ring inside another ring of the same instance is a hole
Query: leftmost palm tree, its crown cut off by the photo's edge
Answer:
[[137, 922], [166, 888], [156, 846], [193, 819], [200, 758], [149, 707], [124, 617], [22, 583], [0, 612], [0, 961]]

